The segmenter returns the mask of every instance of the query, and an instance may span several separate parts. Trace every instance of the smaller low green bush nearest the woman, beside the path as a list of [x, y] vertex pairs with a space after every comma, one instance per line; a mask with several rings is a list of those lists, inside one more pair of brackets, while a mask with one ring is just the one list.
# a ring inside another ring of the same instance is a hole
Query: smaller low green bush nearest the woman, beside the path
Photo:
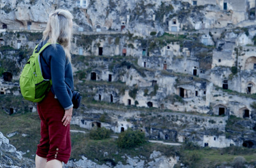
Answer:
[[92, 140], [103, 140], [110, 137], [111, 131], [107, 128], [95, 128], [90, 130], [89, 137]]

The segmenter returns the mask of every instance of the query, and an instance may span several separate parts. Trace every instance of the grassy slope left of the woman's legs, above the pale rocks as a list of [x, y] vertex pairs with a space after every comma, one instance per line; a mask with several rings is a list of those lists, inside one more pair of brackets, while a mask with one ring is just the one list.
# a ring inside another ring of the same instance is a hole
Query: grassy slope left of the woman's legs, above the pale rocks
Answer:
[[[9, 133], [17, 132], [18, 134], [8, 138], [10, 144], [14, 145], [17, 150], [25, 152], [23, 157], [35, 159], [37, 144], [40, 140], [40, 118], [37, 113], [19, 113], [7, 115], [6, 112], [0, 111], [0, 131], [6, 136]], [[26, 134], [23, 137], [22, 134]], [[29, 152], [27, 152], [29, 150]]]

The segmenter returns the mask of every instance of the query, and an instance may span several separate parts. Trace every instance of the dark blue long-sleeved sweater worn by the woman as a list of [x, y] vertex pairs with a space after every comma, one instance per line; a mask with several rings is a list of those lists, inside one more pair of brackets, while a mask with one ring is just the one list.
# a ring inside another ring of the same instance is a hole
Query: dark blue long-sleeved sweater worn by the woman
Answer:
[[[37, 51], [47, 43], [39, 43]], [[40, 62], [44, 79], [52, 79], [51, 91], [58, 98], [62, 107], [67, 110], [73, 107], [74, 90], [73, 73], [70, 61], [66, 58], [63, 47], [56, 44], [56, 48], [48, 46], [40, 54]]]

